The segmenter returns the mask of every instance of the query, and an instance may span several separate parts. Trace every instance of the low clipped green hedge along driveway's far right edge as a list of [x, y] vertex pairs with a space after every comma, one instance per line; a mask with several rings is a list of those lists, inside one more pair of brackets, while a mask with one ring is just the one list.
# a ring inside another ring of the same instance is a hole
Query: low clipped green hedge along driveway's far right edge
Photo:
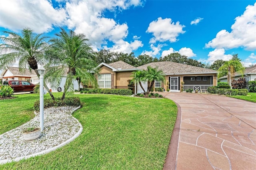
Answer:
[[208, 87], [207, 91], [212, 94], [231, 95], [231, 96], [235, 96], [235, 95], [246, 96], [248, 94], [247, 89], [223, 89], [223, 88], [218, 88], [216, 86]]

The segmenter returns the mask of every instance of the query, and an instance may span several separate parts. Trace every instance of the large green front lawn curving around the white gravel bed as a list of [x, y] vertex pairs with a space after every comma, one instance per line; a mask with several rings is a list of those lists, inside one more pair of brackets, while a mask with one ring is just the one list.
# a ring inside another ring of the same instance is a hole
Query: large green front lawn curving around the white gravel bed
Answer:
[[[78, 138], [56, 151], [0, 165], [0, 169], [162, 169], [176, 120], [174, 102], [117, 95], [77, 96], [83, 107], [73, 116], [84, 128]], [[26, 101], [31, 105], [24, 112], [31, 115], [37, 98], [34, 94], [19, 95], [9, 103], [16, 107]], [[0, 101], [1, 108], [5, 102]], [[11, 128], [18, 126], [12, 126], [9, 119], [4, 121]]]

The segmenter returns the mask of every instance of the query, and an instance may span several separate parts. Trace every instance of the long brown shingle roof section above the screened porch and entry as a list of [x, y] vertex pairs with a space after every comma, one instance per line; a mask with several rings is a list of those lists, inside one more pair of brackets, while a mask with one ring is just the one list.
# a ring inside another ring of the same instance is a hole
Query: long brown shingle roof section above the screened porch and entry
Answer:
[[159, 70], [162, 70], [166, 75], [171, 74], [185, 74], [185, 73], [217, 73], [216, 70], [205, 69], [202, 67], [195, 67], [192, 65], [186, 65], [181, 63], [174, 63], [172, 61], [161, 61], [148, 63], [137, 67], [138, 69], [146, 70], [148, 65], [155, 68], [158, 67]]

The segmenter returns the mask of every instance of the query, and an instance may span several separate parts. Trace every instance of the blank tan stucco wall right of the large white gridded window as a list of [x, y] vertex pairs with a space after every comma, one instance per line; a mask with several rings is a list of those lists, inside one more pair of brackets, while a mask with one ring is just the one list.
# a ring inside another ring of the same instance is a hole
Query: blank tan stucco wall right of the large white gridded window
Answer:
[[127, 89], [128, 80], [131, 80], [132, 71], [116, 72], [116, 88]]

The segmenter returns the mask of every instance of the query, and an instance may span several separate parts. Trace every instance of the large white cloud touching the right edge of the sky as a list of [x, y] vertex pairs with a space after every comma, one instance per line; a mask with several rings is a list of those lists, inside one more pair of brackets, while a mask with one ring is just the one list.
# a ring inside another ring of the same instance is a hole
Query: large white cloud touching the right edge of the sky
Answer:
[[235, 18], [231, 29], [231, 32], [227, 30], [218, 32], [216, 38], [208, 42], [205, 47], [256, 49], [256, 3], [247, 6], [244, 14]]

